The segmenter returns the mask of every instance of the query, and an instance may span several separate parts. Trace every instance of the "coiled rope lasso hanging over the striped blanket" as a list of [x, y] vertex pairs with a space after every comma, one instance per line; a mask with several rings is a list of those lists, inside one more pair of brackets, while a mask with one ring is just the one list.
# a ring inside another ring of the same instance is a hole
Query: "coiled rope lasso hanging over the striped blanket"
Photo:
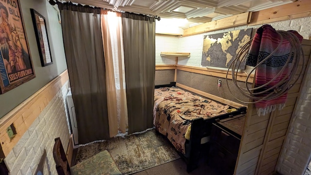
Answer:
[[[298, 74], [298, 77], [296, 77], [294, 79], [294, 75], [297, 73], [296, 71], [298, 70], [299, 63], [301, 63], [301, 61], [302, 61], [302, 65], [305, 65], [304, 53], [303, 53], [303, 50], [302, 50], [302, 47], [301, 47], [301, 44], [300, 44], [298, 37], [291, 32], [286, 32], [286, 31], [281, 31], [281, 30], [278, 30], [276, 32], [280, 36], [281, 42], [278, 44], [277, 48], [271, 54], [269, 54], [266, 58], [264, 58], [262, 61], [257, 63], [257, 65], [247, 74], [247, 78], [245, 81], [245, 87], [238, 85], [237, 76], [238, 76], [238, 70], [240, 69], [241, 63], [246, 59], [246, 55], [247, 55], [248, 51], [250, 50], [253, 38], [250, 41], [248, 41], [241, 48], [239, 53], [235, 56], [234, 60], [231, 62], [230, 66], [227, 70], [227, 73], [226, 73], [226, 84], [227, 84], [227, 87], [228, 87], [230, 93], [232, 94], [232, 96], [236, 100], [238, 100], [239, 102], [242, 102], [245, 104], [255, 104], [255, 103], [261, 102], [263, 100], [269, 101], [272, 99], [276, 99], [277, 97], [280, 97], [283, 94], [285, 94], [286, 92], [288, 92], [293, 87], [293, 85], [297, 82], [297, 80], [300, 78], [302, 72], [305, 71], [305, 68], [303, 66], [303, 68], [300, 70], [300, 72]], [[285, 65], [277, 73], [277, 75], [272, 80], [267, 82], [266, 84], [261, 85], [259, 87], [255, 87], [255, 88], [249, 88], [249, 86], [247, 85], [247, 82], [248, 82], [248, 79], [250, 78], [250, 75], [261, 64], [263, 64], [266, 60], [268, 60], [270, 57], [272, 57], [272, 55], [282, 45], [283, 38], [288, 40], [290, 45], [291, 45], [291, 51], [290, 51], [290, 54], [288, 55], [288, 58], [287, 58]], [[288, 67], [290, 60], [291, 60], [291, 57], [293, 57], [293, 62], [291, 63], [290, 68], [287, 71], [287, 73], [285, 74], [285, 76], [278, 83], [276, 83], [274, 86], [272, 86], [270, 88], [265, 88], [271, 82], [273, 82], [276, 78], [279, 78], [280, 75], [282, 75], [282, 76], [284, 75], [283, 72], [284, 72], [285, 68]], [[245, 102], [245, 101], [241, 100], [240, 98], [238, 98], [237, 97], [238, 94], [232, 93], [231, 89], [229, 88], [228, 74], [229, 74], [230, 69], [231, 69], [232, 81], [233, 81], [234, 85], [236, 86], [238, 91], [241, 92], [241, 94], [243, 96], [251, 99], [249, 102]], [[260, 88], [263, 88], [265, 90], [259, 91], [258, 89], [260, 89]], [[270, 91], [270, 92], [267, 93], [268, 91]]]

